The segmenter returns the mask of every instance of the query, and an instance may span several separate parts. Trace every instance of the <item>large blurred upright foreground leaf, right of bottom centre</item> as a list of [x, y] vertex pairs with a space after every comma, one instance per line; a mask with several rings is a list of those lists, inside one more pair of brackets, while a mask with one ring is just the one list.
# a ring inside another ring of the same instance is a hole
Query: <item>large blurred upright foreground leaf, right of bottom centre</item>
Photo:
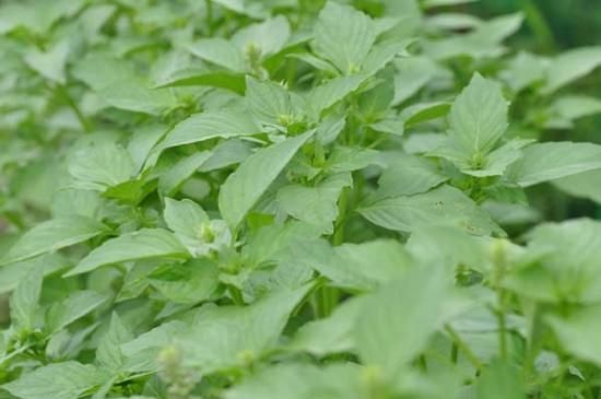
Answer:
[[363, 363], [398, 378], [436, 331], [447, 292], [439, 268], [420, 268], [367, 298], [354, 328]]

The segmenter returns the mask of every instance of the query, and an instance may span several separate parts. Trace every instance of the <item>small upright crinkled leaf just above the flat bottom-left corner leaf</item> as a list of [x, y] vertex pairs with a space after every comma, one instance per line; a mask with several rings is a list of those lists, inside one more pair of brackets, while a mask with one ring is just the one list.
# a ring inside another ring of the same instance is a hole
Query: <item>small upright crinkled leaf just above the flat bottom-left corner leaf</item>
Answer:
[[96, 349], [96, 362], [103, 368], [119, 372], [125, 364], [125, 356], [121, 353], [120, 344], [133, 339], [133, 333], [123, 325], [119, 315], [113, 313], [108, 330], [105, 332], [98, 349]]

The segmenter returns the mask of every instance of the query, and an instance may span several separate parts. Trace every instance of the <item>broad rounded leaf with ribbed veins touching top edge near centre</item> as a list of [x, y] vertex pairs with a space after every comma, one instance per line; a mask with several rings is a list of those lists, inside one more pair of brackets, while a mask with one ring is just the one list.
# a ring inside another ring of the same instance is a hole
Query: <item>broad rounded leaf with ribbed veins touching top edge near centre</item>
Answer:
[[374, 23], [363, 12], [328, 1], [314, 28], [314, 50], [343, 74], [361, 70], [376, 40]]

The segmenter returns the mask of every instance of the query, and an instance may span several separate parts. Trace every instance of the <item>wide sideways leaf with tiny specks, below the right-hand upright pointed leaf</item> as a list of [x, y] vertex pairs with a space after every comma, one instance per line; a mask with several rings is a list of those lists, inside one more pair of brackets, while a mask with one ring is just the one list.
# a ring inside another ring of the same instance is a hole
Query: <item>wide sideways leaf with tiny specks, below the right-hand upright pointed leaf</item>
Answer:
[[358, 212], [374, 224], [399, 232], [413, 232], [424, 225], [452, 225], [474, 235], [504, 235], [484, 210], [450, 186], [385, 199]]

